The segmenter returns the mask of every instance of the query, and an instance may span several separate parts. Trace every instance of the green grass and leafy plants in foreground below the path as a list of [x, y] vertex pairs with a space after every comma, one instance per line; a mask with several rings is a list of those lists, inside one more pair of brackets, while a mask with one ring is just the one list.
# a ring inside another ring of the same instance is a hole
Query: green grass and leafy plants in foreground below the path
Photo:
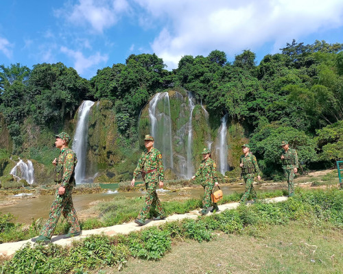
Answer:
[[[124, 273], [184, 273], [180, 269], [187, 269], [189, 264], [199, 271], [190, 273], [342, 273], [342, 203], [342, 190], [297, 189], [296, 196], [284, 202], [239, 206], [237, 210], [169, 222], [128, 236], [91, 236], [64, 248], [26, 246], [4, 262], [3, 273], [84, 273], [77, 271], [101, 267], [110, 267], [108, 273], [113, 273], [113, 266], [121, 268], [130, 257], [160, 260], [168, 251], [173, 252], [175, 244], [187, 239], [195, 240], [191, 246], [203, 251], [183, 249], [176, 256], [179, 260], [168, 269], [171, 272], [161, 270], [158, 263], [141, 261], [143, 268], [129, 265]], [[223, 267], [211, 267], [212, 260]], [[154, 271], [145, 265], [152, 265]]]

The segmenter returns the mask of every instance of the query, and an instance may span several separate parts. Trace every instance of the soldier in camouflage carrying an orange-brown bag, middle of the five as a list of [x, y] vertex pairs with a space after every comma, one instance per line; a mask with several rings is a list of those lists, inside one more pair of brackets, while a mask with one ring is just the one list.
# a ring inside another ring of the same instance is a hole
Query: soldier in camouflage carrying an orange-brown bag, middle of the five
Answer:
[[200, 177], [201, 185], [204, 187], [204, 198], [202, 199], [202, 210], [200, 210], [200, 214], [204, 215], [207, 213], [207, 208], [213, 206], [211, 212], [219, 211], [217, 203], [213, 203], [211, 200], [211, 194], [213, 188], [218, 186], [218, 178], [216, 173], [216, 166], [215, 162], [211, 158], [211, 153], [209, 149], [204, 148], [202, 151], [202, 162], [199, 166], [196, 175], [192, 177], [192, 179], [196, 179]]

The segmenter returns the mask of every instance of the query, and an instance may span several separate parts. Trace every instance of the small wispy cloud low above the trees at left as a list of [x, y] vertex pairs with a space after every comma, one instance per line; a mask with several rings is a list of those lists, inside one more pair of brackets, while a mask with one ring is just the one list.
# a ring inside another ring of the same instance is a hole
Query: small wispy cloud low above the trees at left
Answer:
[[73, 51], [67, 47], [60, 47], [60, 51], [67, 54], [69, 58], [74, 60], [73, 67], [80, 75], [85, 73], [85, 71], [90, 69], [92, 66], [95, 66], [101, 62], [107, 62], [108, 60], [108, 55], [101, 55], [99, 52], [86, 58], [81, 51]]

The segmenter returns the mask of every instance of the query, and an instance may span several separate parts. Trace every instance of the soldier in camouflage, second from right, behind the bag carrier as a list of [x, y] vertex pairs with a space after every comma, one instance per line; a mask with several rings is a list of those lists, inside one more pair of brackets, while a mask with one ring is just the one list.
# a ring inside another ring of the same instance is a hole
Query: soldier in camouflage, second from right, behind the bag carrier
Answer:
[[244, 195], [241, 197], [240, 203], [246, 203], [249, 195], [251, 194], [254, 201], [257, 199], [256, 191], [252, 183], [254, 182], [255, 173], [257, 173], [257, 179], [261, 179], [261, 171], [259, 170], [259, 165], [257, 164], [257, 160], [255, 155], [250, 153], [250, 146], [248, 144], [244, 144], [241, 146], [243, 150], [243, 155], [241, 155], [241, 174], [244, 178], [244, 182], [246, 184], [246, 188], [244, 191]]

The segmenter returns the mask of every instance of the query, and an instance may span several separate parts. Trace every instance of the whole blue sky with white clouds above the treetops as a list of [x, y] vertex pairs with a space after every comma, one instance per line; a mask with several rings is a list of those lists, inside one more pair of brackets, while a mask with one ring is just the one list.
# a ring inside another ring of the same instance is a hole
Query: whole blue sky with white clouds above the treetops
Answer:
[[82, 77], [156, 53], [167, 69], [183, 55], [244, 49], [257, 61], [287, 42], [343, 42], [342, 0], [2, 0], [0, 64], [63, 62]]

